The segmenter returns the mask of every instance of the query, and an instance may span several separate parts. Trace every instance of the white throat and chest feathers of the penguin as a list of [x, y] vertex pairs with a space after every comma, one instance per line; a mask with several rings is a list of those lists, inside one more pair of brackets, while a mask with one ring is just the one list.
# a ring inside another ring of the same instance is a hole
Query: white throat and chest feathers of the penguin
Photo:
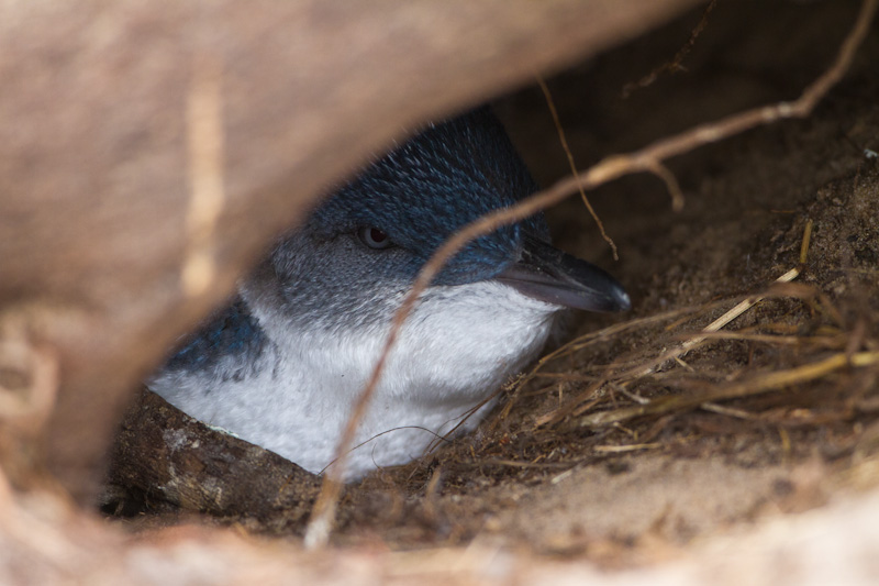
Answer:
[[[403, 327], [345, 478], [423, 455], [534, 358], [558, 309], [496, 281], [434, 287]], [[190, 416], [319, 473], [335, 455], [388, 327], [303, 331], [269, 312], [255, 317], [271, 340], [256, 374], [240, 380], [163, 374], [149, 387]], [[460, 429], [472, 429], [487, 408]]]

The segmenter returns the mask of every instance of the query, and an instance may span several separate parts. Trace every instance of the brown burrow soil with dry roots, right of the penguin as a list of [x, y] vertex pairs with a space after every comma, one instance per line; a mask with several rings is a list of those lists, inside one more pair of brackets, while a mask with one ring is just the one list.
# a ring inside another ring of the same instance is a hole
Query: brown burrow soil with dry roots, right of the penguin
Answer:
[[[857, 9], [721, 1], [685, 69], [628, 98], [622, 88], [672, 59], [701, 11], [548, 79], [577, 165], [794, 99], [832, 63]], [[811, 117], [669, 162], [682, 211], [653, 176], [590, 192], [619, 261], [579, 197], [549, 210], [556, 243], [625, 284], [632, 312], [576, 316], [549, 349], [557, 357], [504, 388], [477, 432], [351, 487], [333, 539], [411, 549], [497, 538], [628, 566], [879, 484], [859, 473], [874, 469], [879, 364], [826, 366], [879, 350], [877, 32]], [[539, 88], [496, 110], [538, 181], [569, 173]], [[765, 299], [726, 335], [656, 360], [755, 294]], [[815, 364], [825, 366], [802, 371]], [[799, 378], [770, 384], [779, 373]], [[679, 397], [692, 400], [663, 402]]]

